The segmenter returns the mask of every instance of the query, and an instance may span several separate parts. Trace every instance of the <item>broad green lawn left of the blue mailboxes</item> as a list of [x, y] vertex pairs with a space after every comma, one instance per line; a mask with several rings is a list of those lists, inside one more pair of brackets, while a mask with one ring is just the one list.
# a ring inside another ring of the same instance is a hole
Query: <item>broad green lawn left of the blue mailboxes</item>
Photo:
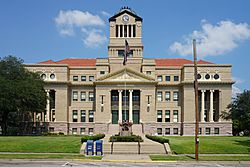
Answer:
[[0, 137], [0, 152], [79, 153], [80, 136]]

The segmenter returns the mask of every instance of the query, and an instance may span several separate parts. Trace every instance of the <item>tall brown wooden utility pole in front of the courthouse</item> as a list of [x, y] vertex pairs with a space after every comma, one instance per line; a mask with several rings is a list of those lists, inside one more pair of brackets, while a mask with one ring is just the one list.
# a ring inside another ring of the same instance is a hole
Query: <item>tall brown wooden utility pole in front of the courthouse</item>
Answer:
[[193, 39], [194, 52], [194, 91], [195, 91], [195, 159], [199, 160], [199, 111], [198, 111], [198, 81], [197, 81], [197, 55], [196, 55], [196, 40]]

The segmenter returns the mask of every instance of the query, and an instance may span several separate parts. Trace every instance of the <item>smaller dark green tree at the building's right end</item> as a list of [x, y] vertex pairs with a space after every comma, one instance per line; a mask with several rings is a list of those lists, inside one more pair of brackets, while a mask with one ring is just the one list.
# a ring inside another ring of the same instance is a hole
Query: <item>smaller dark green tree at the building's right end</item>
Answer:
[[228, 106], [229, 112], [223, 112], [221, 117], [233, 121], [233, 134], [239, 135], [244, 132], [250, 133], [250, 90], [237, 95], [233, 102]]

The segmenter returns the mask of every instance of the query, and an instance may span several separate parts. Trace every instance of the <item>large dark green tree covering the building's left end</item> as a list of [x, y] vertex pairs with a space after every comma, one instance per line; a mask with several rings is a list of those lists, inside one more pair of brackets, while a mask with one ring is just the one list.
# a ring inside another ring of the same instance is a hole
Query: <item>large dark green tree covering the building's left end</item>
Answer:
[[14, 56], [0, 58], [0, 122], [3, 135], [33, 112], [46, 106], [44, 81], [39, 74], [24, 68]]

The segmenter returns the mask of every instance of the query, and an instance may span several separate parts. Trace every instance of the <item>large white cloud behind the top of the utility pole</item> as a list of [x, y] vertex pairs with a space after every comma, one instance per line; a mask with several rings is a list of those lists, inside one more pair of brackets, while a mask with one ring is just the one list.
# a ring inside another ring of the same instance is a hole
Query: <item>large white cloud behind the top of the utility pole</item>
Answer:
[[181, 56], [192, 55], [192, 40], [196, 39], [198, 55], [218, 56], [235, 49], [239, 42], [250, 38], [250, 26], [246, 23], [220, 21], [212, 25], [205, 20], [201, 21], [201, 30], [193, 31], [183, 37], [183, 42], [174, 42], [169, 50]]

